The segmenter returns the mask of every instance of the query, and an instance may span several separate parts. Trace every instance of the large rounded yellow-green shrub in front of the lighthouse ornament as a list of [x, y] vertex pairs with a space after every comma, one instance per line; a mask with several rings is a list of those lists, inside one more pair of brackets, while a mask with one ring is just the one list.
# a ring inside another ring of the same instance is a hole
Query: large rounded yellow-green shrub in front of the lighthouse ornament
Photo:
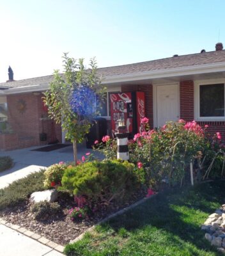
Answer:
[[93, 161], [67, 168], [62, 186], [91, 202], [109, 204], [112, 200], [130, 197], [139, 186], [139, 177], [134, 172], [134, 164], [127, 161]]

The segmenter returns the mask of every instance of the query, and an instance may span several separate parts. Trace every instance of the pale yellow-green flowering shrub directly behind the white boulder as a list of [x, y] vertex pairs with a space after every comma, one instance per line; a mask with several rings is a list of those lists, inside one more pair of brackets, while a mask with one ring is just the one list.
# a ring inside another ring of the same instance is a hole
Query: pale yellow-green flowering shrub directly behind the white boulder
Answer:
[[65, 169], [66, 164], [64, 162], [59, 162], [59, 164], [52, 164], [49, 166], [44, 173], [45, 180], [43, 184], [45, 188], [51, 188], [57, 185], [60, 186]]

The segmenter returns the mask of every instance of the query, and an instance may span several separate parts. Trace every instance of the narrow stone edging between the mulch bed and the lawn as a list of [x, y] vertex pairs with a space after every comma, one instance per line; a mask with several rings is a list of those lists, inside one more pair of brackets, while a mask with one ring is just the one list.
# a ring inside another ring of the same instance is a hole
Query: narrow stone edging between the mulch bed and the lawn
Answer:
[[132, 204], [132, 205], [128, 205], [127, 207], [121, 209], [120, 211], [118, 212], [114, 212], [113, 214], [107, 216], [106, 218], [104, 218], [103, 220], [99, 221], [97, 224], [89, 227], [88, 229], [86, 229], [80, 236], [76, 237], [74, 240], [72, 240], [69, 244], [72, 244], [72, 243], [76, 243], [77, 241], [80, 241], [84, 235], [87, 233], [87, 232], [93, 232], [93, 230], [95, 229], [95, 227], [97, 225], [101, 225], [109, 220], [111, 220], [112, 218], [116, 217], [116, 216], [119, 216], [127, 211], [129, 211], [130, 209], [133, 209], [134, 207], [136, 207], [137, 205], [140, 205], [140, 204], [143, 204], [144, 202], [150, 200], [151, 198], [155, 197], [158, 193], [155, 193], [155, 195], [151, 195], [149, 197], [144, 197], [142, 198], [141, 200], [137, 201], [136, 203]]

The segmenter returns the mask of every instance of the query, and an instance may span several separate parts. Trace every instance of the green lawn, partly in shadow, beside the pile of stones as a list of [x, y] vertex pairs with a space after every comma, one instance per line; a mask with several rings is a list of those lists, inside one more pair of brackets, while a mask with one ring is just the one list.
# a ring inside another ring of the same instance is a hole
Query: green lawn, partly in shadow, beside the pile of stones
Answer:
[[205, 239], [201, 224], [224, 204], [225, 182], [199, 184], [157, 195], [68, 244], [68, 256], [222, 255]]

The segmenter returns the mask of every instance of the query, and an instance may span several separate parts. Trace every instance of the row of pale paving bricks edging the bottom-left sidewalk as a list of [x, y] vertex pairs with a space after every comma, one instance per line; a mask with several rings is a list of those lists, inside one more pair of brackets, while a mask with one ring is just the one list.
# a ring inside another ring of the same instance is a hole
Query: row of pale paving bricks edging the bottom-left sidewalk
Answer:
[[63, 251], [64, 251], [65, 246], [62, 246], [61, 244], [54, 243], [53, 241], [50, 241], [46, 237], [40, 236], [31, 230], [27, 230], [24, 227], [20, 227], [19, 225], [13, 225], [10, 222], [6, 222], [5, 220], [3, 220], [3, 218], [0, 218], [0, 224], [6, 226], [8, 228], [12, 228], [13, 230], [20, 232], [21, 234], [24, 234], [25, 236], [30, 237], [42, 244], [45, 244], [58, 252], [63, 253]]

